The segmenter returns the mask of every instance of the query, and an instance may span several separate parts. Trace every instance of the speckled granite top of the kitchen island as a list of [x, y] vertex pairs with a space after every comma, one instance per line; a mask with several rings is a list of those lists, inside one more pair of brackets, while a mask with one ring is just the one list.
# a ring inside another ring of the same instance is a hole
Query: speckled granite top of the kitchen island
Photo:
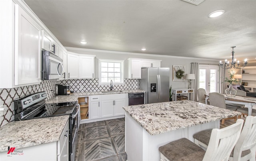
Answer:
[[150, 135], [157, 135], [241, 114], [240, 112], [191, 100], [142, 104], [123, 108]]

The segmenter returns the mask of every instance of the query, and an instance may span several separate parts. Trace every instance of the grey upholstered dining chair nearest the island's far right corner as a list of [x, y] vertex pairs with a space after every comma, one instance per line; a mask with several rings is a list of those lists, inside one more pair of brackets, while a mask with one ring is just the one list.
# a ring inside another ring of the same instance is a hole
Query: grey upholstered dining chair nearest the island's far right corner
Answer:
[[[210, 99], [210, 105], [212, 106], [216, 106], [216, 107], [220, 107], [220, 108], [225, 108], [228, 110], [232, 110], [232, 111], [236, 111], [237, 108], [234, 106], [230, 106], [228, 104], [226, 104], [225, 102], [225, 96], [223, 94], [220, 94], [218, 92], [211, 92], [209, 93], [209, 99]], [[229, 120], [229, 119], [234, 119], [236, 122], [236, 116], [232, 117], [232, 118], [224, 118], [222, 119], [221, 124], [225, 123], [225, 120]]]

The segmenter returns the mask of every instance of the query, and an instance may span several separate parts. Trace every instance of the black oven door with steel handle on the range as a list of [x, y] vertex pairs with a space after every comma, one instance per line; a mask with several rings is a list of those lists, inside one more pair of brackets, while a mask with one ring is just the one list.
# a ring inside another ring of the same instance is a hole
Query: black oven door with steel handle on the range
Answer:
[[[70, 138], [70, 161], [74, 161], [76, 157], [76, 148], [77, 148], [77, 134], [78, 134], [78, 114], [79, 114], [79, 104], [76, 105], [75, 110], [72, 113], [71, 124], [72, 124], [72, 130], [71, 130], [71, 138]], [[71, 150], [72, 149], [72, 150]]]

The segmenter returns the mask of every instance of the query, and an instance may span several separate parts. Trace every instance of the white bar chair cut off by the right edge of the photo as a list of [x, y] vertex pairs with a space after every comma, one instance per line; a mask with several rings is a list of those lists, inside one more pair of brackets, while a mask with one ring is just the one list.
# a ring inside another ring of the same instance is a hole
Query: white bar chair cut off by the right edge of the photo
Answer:
[[[239, 120], [239, 119], [238, 119]], [[207, 148], [212, 129], [203, 130], [193, 135], [196, 145]], [[229, 161], [247, 161], [256, 158], [256, 116], [248, 116], [240, 137], [232, 150]]]

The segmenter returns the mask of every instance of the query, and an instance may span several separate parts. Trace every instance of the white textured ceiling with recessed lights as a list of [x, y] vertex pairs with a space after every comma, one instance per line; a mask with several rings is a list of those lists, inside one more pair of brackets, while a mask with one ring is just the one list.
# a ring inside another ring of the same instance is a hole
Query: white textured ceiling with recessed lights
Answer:
[[[66, 47], [225, 59], [236, 46], [237, 59], [256, 60], [256, 0], [25, 2]], [[215, 10], [225, 13], [208, 18]]]

